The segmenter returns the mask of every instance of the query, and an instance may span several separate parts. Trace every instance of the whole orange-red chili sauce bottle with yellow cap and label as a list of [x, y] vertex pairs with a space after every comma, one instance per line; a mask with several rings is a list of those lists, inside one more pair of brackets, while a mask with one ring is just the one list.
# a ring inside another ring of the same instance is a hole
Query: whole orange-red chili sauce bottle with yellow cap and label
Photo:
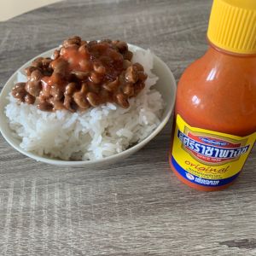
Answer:
[[212, 191], [234, 182], [256, 139], [256, 1], [214, 0], [207, 39], [177, 86], [170, 165]]

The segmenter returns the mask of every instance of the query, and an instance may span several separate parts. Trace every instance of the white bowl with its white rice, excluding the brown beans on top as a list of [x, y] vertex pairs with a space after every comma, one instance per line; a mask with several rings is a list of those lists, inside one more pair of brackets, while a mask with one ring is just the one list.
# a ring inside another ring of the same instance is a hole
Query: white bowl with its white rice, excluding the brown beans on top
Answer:
[[[45, 112], [11, 95], [17, 82], [26, 82], [20, 67], [4, 85], [0, 95], [0, 131], [21, 154], [57, 166], [102, 167], [124, 160], [143, 148], [170, 119], [176, 96], [174, 76], [149, 49], [128, 44], [132, 63], [140, 63], [148, 78], [129, 108], [114, 102], [82, 112]], [[38, 57], [49, 57], [50, 49]], [[171, 129], [171, 127], [170, 127]]]

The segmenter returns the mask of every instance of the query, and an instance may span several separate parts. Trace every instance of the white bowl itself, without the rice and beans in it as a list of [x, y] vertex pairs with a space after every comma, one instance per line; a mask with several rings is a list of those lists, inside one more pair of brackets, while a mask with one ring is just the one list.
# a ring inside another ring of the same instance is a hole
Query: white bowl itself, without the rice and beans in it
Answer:
[[[129, 49], [131, 49], [132, 51], [135, 51], [137, 49], [145, 50], [132, 44], [129, 44]], [[43, 54], [38, 55], [37, 57], [39, 56], [49, 57], [50, 55], [52, 55], [54, 50], [55, 49], [50, 49], [44, 52]], [[35, 58], [33, 58], [32, 60], [34, 60]], [[102, 160], [80, 160], [80, 161], [56, 160], [56, 159], [50, 159], [47, 156], [43, 157], [37, 154], [33, 154], [32, 152], [27, 152], [23, 148], [20, 148], [20, 140], [13, 136], [12, 134], [13, 131], [11, 131], [9, 128], [9, 121], [4, 113], [4, 108], [9, 103], [9, 100], [7, 99], [7, 97], [9, 96], [9, 92], [13, 88], [15, 82], [17, 81], [17, 73], [20, 71], [24, 71], [24, 69], [31, 64], [32, 60], [27, 61], [26, 64], [20, 67], [9, 78], [7, 83], [3, 86], [3, 90], [0, 95], [0, 131], [3, 137], [5, 138], [5, 140], [13, 148], [20, 151], [21, 154], [25, 154], [26, 156], [34, 160], [42, 161], [44, 163], [57, 165], [57, 166], [84, 166], [87, 168], [91, 168], [91, 167], [96, 168], [96, 167], [110, 165], [115, 162], [118, 162], [119, 160], [124, 160], [129, 155], [137, 152], [137, 150], [139, 150], [140, 148], [143, 148], [143, 146], [149, 143], [165, 127], [168, 119], [170, 119], [170, 116], [172, 115], [175, 96], [176, 96], [176, 87], [177, 87], [176, 81], [174, 79], [174, 76], [171, 70], [169, 69], [169, 67], [166, 66], [166, 63], [161, 61], [159, 57], [154, 55], [153, 72], [159, 77], [159, 80], [157, 84], [154, 85], [154, 88], [160, 91], [160, 94], [163, 96], [164, 102], [166, 103], [166, 107], [164, 109], [162, 118], [160, 119], [160, 125], [158, 125], [158, 127], [148, 137], [146, 137], [141, 143], [137, 143], [133, 147], [128, 148], [119, 154], [114, 154]], [[171, 136], [171, 131], [170, 131], [170, 136]]]

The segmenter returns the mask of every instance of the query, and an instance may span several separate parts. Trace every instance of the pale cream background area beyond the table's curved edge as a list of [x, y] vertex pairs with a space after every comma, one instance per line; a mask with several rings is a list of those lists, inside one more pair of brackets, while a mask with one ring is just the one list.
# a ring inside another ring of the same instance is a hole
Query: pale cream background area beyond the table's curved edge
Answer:
[[0, 0], [0, 21], [61, 0]]

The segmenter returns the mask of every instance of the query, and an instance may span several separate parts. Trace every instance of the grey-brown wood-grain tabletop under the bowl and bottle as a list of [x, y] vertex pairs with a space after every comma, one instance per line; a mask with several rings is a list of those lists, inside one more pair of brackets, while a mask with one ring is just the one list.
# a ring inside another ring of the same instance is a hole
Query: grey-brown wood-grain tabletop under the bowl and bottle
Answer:
[[[210, 0], [49, 5], [0, 23], [0, 85], [71, 35], [119, 38], [159, 55], [179, 79], [207, 49]], [[201, 193], [169, 171], [171, 124], [102, 170], [48, 166], [0, 137], [1, 255], [256, 255], [256, 151], [238, 181]]]

